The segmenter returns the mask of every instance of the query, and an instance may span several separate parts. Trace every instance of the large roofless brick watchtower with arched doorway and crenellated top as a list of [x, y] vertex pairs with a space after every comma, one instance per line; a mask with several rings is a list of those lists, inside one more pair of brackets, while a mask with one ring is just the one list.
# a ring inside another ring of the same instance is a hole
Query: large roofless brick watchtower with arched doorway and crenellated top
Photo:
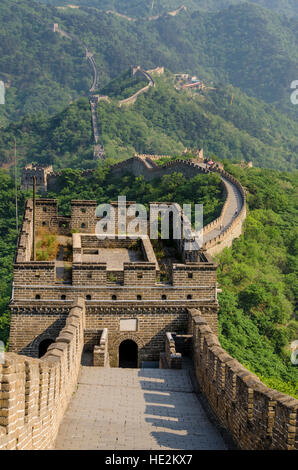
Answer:
[[[111, 205], [113, 221], [118, 225], [121, 217], [122, 227], [126, 209], [118, 202]], [[172, 206], [181, 210], [178, 204]], [[161, 246], [163, 241], [156, 244], [147, 235], [123, 237], [122, 228], [114, 238], [99, 239], [95, 227], [102, 218], [96, 207], [96, 201], [72, 201], [71, 215], [60, 216], [56, 200], [38, 198], [38, 256], [33, 260], [33, 204], [27, 202], [14, 264], [10, 351], [42, 356], [78, 297], [86, 304], [85, 350], [94, 353], [104, 338], [110, 366], [120, 365], [125, 348], [131, 352], [132, 345], [136, 365], [159, 361], [167, 332], [187, 343], [189, 309], [200, 310], [216, 334], [217, 265], [212, 258], [206, 252], [194, 256], [183, 240]], [[155, 209], [156, 203], [150, 204]], [[125, 223], [134, 218], [127, 216]], [[46, 243], [49, 233], [53, 246]]]

